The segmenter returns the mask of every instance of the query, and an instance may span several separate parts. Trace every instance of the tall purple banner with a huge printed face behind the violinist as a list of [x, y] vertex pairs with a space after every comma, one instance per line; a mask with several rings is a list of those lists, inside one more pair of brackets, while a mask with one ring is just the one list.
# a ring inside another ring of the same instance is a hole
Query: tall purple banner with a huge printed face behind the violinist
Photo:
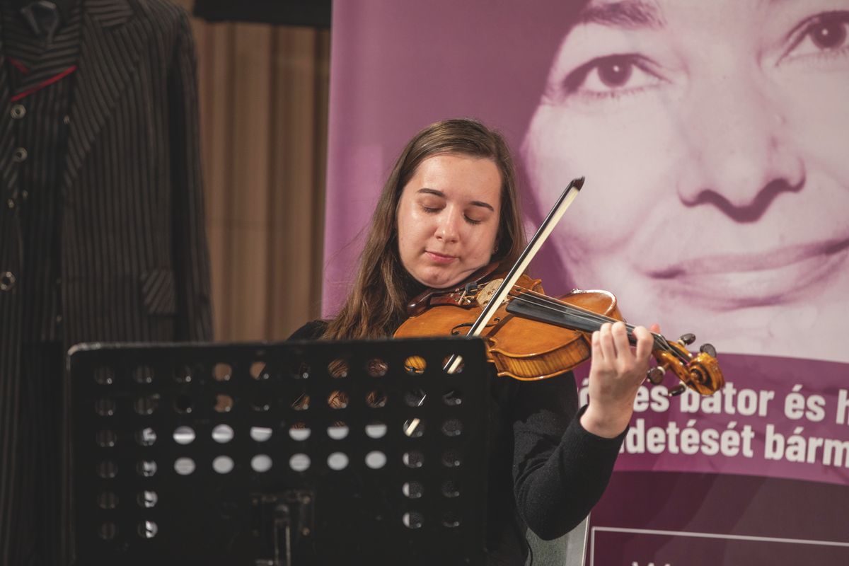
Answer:
[[849, 0], [334, 9], [325, 314], [402, 145], [479, 118], [529, 231], [587, 178], [531, 267], [548, 293], [610, 290], [628, 322], [716, 346], [728, 382], [640, 391], [588, 561], [846, 563]]

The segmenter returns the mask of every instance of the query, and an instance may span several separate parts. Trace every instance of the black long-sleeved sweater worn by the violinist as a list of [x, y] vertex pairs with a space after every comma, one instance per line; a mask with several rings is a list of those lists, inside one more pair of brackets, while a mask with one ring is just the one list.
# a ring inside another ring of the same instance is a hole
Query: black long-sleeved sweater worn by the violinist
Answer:
[[[317, 339], [308, 322], [290, 339]], [[610, 480], [623, 431], [605, 439], [583, 429], [571, 373], [541, 381], [493, 378], [486, 548], [490, 564], [523, 566], [525, 530], [554, 539], [573, 529]]]

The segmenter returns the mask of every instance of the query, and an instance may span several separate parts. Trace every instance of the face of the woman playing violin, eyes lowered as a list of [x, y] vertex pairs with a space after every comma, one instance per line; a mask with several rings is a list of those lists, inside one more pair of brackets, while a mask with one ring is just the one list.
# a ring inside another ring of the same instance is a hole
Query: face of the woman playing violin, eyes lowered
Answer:
[[422, 161], [398, 203], [402, 265], [427, 287], [459, 283], [489, 263], [500, 207], [492, 160], [440, 154]]

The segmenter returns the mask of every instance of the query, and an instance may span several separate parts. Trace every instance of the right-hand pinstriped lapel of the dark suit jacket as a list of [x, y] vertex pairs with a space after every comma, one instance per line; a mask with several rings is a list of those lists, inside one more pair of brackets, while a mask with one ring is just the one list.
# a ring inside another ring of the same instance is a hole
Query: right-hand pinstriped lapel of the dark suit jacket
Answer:
[[76, 71], [62, 193], [66, 194], [135, 73], [144, 37], [127, 0], [84, 0], [82, 45]]

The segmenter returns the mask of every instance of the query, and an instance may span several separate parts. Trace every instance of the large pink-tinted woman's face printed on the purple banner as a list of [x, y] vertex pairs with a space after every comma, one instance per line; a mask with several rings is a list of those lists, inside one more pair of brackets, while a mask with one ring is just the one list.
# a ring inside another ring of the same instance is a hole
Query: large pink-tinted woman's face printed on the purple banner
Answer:
[[570, 282], [721, 351], [849, 361], [849, 1], [592, 2], [521, 148]]

